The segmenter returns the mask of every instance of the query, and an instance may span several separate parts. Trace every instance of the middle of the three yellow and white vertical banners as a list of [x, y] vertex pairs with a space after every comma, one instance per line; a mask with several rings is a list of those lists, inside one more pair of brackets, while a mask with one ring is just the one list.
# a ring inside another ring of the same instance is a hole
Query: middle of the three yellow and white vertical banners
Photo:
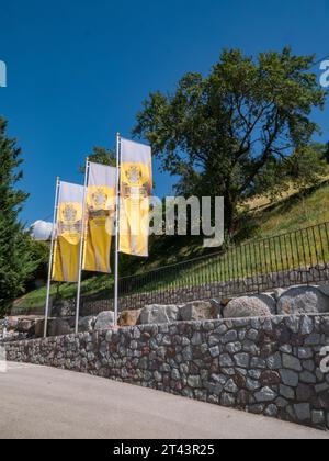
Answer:
[[90, 164], [83, 270], [110, 273], [116, 168]]

